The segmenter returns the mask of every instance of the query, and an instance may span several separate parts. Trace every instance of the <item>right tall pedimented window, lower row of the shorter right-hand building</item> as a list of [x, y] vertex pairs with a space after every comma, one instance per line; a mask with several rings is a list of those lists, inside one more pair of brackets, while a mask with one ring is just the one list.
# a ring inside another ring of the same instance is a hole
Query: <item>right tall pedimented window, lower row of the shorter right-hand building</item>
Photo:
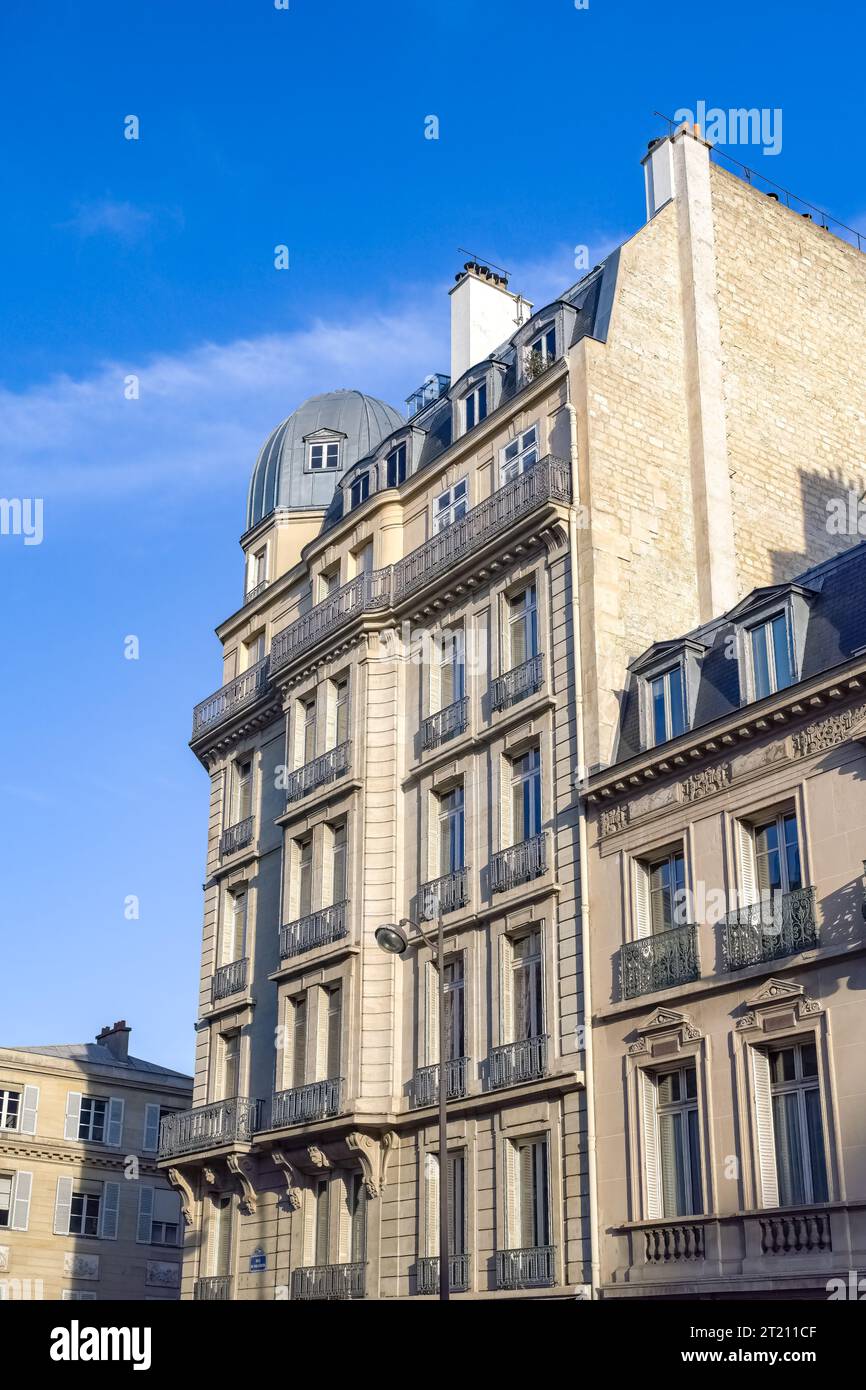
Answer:
[[770, 1094], [780, 1207], [827, 1201], [824, 1126], [815, 1042], [771, 1048]]

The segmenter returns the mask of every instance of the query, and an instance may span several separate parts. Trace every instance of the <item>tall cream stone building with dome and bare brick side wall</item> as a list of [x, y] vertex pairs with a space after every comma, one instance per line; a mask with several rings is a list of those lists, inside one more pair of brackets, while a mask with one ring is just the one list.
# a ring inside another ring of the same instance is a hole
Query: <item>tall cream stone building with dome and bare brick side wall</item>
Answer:
[[851, 545], [826, 502], [866, 449], [863, 257], [685, 131], [646, 167], [648, 224], [544, 309], [466, 265], [406, 421], [331, 392], [261, 450], [193, 717], [188, 1297], [435, 1289], [434, 974], [374, 931], [436, 901], [455, 1286], [601, 1282], [584, 773], [637, 653]]

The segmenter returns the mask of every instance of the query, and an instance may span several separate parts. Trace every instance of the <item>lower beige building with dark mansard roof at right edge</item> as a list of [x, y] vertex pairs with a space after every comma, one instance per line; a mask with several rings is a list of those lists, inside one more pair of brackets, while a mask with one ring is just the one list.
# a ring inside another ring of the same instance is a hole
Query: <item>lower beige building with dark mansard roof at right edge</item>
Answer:
[[866, 1266], [866, 545], [632, 664], [591, 780], [605, 1297]]

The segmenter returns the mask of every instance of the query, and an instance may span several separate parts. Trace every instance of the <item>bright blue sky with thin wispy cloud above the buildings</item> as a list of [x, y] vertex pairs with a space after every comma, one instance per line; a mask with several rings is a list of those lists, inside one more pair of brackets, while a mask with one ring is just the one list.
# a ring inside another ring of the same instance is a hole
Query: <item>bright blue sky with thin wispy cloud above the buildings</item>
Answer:
[[644, 218], [653, 110], [780, 108], [777, 156], [733, 153], [866, 229], [865, 39], [833, 0], [4, 0], [0, 495], [44, 537], [0, 537], [0, 1041], [125, 1016], [192, 1066], [186, 739], [271, 427], [448, 370], [459, 246], [537, 302], [578, 278]]

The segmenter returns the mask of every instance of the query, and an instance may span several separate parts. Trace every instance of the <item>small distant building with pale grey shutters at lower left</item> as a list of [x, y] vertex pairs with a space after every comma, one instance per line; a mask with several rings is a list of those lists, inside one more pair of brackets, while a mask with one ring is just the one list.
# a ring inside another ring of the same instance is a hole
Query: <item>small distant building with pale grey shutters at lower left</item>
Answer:
[[192, 1077], [96, 1042], [0, 1048], [0, 1298], [177, 1298], [181, 1201], [160, 1120]]

